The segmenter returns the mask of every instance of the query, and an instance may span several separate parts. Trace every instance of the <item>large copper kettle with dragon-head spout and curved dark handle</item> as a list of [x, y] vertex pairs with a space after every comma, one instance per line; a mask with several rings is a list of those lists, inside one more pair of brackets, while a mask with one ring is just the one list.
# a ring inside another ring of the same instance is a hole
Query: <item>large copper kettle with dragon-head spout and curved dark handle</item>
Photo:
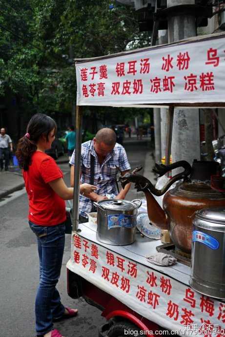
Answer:
[[[169, 230], [176, 249], [189, 254], [195, 212], [203, 208], [225, 206], [225, 193], [213, 190], [210, 186], [211, 175], [217, 175], [220, 169], [216, 162], [194, 160], [192, 167], [186, 161], [167, 166], [156, 164], [155, 172], [163, 176], [180, 167], [184, 171], [172, 177], [162, 190], [157, 190], [147, 178], [137, 174], [141, 167], [132, 173], [126, 173], [119, 180], [123, 187], [133, 182], [138, 191], [144, 192], [151, 223], [160, 229]], [[174, 182], [181, 179], [175, 188], [168, 190]], [[164, 193], [162, 209], [152, 194], [160, 196]]]

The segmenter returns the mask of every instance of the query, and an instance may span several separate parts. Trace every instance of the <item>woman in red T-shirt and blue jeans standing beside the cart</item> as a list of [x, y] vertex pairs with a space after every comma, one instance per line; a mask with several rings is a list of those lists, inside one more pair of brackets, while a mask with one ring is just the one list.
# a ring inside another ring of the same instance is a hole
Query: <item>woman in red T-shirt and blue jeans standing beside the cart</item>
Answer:
[[[52, 118], [34, 115], [16, 152], [29, 199], [29, 225], [38, 240], [40, 283], [35, 301], [38, 337], [62, 337], [53, 329], [53, 320], [77, 315], [76, 309], [61, 304], [56, 289], [65, 244], [64, 200], [73, 199], [73, 188], [65, 185], [61, 169], [45, 153], [55, 139], [56, 130]], [[95, 189], [93, 185], [80, 185], [81, 193], [87, 197]]]

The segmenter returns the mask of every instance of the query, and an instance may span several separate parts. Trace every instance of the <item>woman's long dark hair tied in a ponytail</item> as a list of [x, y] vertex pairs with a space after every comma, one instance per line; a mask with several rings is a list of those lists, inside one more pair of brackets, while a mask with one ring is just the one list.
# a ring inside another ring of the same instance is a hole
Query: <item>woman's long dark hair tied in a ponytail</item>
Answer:
[[48, 135], [53, 129], [56, 133], [57, 125], [51, 117], [37, 113], [31, 118], [26, 129], [27, 133], [20, 138], [16, 150], [19, 165], [24, 171], [27, 171], [31, 165], [31, 157], [37, 150], [37, 142], [40, 137], [44, 135], [48, 141]]

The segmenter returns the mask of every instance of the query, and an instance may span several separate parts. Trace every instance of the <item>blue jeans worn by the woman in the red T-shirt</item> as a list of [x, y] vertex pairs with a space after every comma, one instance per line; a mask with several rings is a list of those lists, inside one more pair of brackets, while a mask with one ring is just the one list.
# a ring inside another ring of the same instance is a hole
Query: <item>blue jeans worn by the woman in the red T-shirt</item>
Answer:
[[53, 318], [63, 316], [65, 308], [56, 284], [60, 277], [65, 246], [65, 225], [40, 226], [29, 221], [38, 240], [40, 283], [35, 301], [37, 336], [53, 329]]

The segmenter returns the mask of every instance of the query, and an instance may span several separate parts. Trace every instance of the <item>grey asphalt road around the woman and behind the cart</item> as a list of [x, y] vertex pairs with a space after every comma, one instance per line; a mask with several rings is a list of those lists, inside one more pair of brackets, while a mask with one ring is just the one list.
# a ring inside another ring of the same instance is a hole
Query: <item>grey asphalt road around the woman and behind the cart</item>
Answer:
[[[126, 146], [132, 168], [144, 165], [147, 144]], [[69, 168], [61, 165], [69, 186]], [[23, 191], [0, 200], [0, 336], [34, 337], [34, 299], [38, 285], [38, 253], [34, 234], [27, 220], [27, 197]], [[139, 195], [140, 197], [140, 195]], [[137, 198], [130, 190], [128, 199]], [[66, 234], [65, 253], [58, 289], [62, 302], [79, 309], [79, 315], [55, 324], [66, 337], [98, 336], [105, 322], [101, 312], [84, 301], [73, 300], [66, 292], [66, 262], [70, 257], [70, 235]]]

